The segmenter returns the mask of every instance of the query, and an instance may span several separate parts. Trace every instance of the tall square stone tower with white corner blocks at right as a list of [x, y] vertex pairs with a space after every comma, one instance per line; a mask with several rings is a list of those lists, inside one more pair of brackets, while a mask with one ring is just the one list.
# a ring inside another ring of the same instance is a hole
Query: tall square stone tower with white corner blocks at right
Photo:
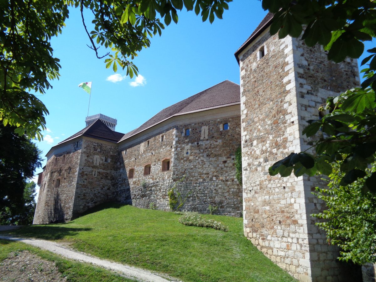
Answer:
[[271, 14], [235, 53], [240, 65], [244, 235], [301, 281], [344, 281], [338, 250], [310, 215], [320, 177], [270, 176], [268, 168], [308, 149], [302, 130], [329, 96], [359, 85], [356, 60], [327, 60], [322, 47], [271, 36]]

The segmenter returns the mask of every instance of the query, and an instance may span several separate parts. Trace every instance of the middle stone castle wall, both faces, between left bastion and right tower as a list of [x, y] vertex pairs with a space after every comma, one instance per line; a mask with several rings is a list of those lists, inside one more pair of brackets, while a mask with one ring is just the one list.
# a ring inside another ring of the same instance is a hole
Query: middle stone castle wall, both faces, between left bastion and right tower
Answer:
[[[229, 130], [221, 130], [223, 123], [229, 124]], [[183, 197], [189, 194], [183, 209], [208, 213], [213, 205], [218, 206], [218, 214], [241, 216], [241, 185], [233, 165], [240, 146], [239, 124], [240, 117], [185, 124], [126, 147], [121, 150], [124, 167], [119, 185], [129, 185], [133, 206], [149, 208], [153, 203], [169, 211], [167, 193], [185, 175], [178, 185]], [[190, 129], [189, 136], [184, 135], [185, 129]], [[166, 160], [170, 169], [163, 171]], [[150, 174], [144, 175], [149, 164]]]

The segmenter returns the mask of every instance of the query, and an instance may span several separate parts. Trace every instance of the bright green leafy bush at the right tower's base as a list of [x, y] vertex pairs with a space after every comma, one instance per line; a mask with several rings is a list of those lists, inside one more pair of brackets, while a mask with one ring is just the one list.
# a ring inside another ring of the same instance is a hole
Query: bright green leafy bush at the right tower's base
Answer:
[[[375, 164], [372, 167], [366, 171], [375, 171]], [[317, 225], [325, 230], [330, 244], [341, 248], [340, 260], [375, 263], [376, 195], [363, 191], [364, 179], [342, 186], [342, 176], [340, 164], [334, 163], [328, 187], [316, 187], [316, 194], [327, 209], [313, 216], [326, 220]]]

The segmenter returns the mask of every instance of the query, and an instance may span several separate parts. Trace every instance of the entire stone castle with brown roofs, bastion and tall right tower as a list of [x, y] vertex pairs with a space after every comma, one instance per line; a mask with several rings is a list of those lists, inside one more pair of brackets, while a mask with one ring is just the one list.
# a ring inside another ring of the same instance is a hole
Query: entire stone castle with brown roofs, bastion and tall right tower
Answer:
[[[310, 216], [323, 209], [311, 193], [320, 177], [281, 178], [268, 168], [308, 149], [306, 121], [318, 119], [327, 97], [359, 85], [358, 65], [334, 64], [320, 46], [271, 36], [271, 18], [235, 53], [240, 86], [221, 82], [127, 134], [98, 115], [52, 147], [34, 224], [69, 221], [106, 201], [169, 210], [167, 192], [185, 175], [185, 209], [205, 213], [214, 205], [223, 215], [243, 214], [244, 235], [300, 281], [348, 280], [338, 249]], [[243, 185], [233, 165], [240, 145]]]

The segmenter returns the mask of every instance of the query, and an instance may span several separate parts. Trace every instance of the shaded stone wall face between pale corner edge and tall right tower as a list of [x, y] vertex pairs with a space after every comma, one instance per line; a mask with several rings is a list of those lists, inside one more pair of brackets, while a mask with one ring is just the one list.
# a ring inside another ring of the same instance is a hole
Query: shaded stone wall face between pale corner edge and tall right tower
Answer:
[[[223, 130], [225, 123], [228, 130]], [[212, 205], [218, 214], [241, 216], [241, 185], [233, 163], [240, 136], [239, 116], [176, 127], [173, 179], [185, 175], [180, 189], [190, 194], [183, 209], [209, 213]]]

